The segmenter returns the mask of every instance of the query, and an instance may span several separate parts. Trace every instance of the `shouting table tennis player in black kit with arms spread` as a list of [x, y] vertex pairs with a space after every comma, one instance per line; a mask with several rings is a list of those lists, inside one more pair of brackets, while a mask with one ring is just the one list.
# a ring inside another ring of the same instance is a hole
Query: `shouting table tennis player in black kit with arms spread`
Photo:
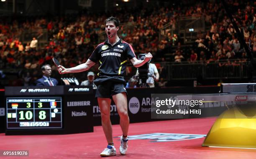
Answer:
[[152, 58], [151, 53], [148, 53], [144, 60], [138, 60], [131, 45], [118, 37], [118, 30], [119, 20], [115, 17], [109, 17], [105, 20], [105, 32], [108, 39], [95, 48], [87, 62], [67, 69], [61, 65], [58, 66], [59, 73], [64, 74], [86, 71], [95, 65], [97, 61], [100, 62], [99, 77], [94, 81], [97, 85], [95, 97], [98, 100], [102, 128], [108, 142], [107, 148], [103, 150], [100, 156], [116, 155], [110, 122], [111, 96], [117, 107], [120, 116], [120, 127], [123, 132], [119, 151], [122, 155], [127, 152], [129, 117], [127, 112], [127, 92], [124, 85], [126, 82], [123, 77], [127, 58], [135, 67], [144, 65]]

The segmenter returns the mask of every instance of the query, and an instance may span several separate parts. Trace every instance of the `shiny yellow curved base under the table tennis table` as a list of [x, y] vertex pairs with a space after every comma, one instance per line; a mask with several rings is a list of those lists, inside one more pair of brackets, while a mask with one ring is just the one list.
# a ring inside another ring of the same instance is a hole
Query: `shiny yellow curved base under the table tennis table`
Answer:
[[234, 107], [223, 112], [202, 146], [256, 149], [256, 106]]

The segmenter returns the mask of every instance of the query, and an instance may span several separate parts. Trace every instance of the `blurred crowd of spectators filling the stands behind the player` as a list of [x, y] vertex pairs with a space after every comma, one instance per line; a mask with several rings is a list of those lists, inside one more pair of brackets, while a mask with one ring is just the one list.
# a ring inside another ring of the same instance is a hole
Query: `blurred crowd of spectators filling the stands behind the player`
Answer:
[[[229, 0], [228, 5], [236, 10], [233, 18], [246, 44], [250, 45], [255, 53], [256, 2], [249, 1], [246, 5], [241, 5], [237, 0]], [[136, 54], [151, 52], [154, 57], [157, 57], [155, 62], [160, 59], [158, 62], [200, 61], [207, 64], [219, 60], [247, 58], [221, 3], [198, 2], [193, 6], [145, 7], [140, 10], [126, 10], [126, 12], [123, 12], [123, 9], [115, 11], [121, 24], [125, 24], [120, 27], [119, 36], [133, 46]], [[171, 34], [168, 30], [166, 36], [159, 39], [159, 30], [162, 27], [170, 24], [175, 30], [177, 21], [184, 16], [205, 16], [205, 24], [211, 26], [206, 32], [197, 33], [197, 40], [190, 50], [184, 50], [179, 35]], [[44, 63], [51, 63], [52, 57], [57, 57], [65, 67], [81, 64], [90, 57], [100, 42], [100, 36], [105, 31], [104, 20], [107, 17], [107, 14], [82, 14], [53, 18], [33, 17], [15, 20], [12, 24], [3, 21], [0, 23], [0, 68], [39, 69]], [[48, 42], [39, 46], [43, 29], [47, 29]], [[20, 36], [24, 30], [38, 30], [39, 38], [35, 37], [30, 43], [23, 43]], [[170, 48], [175, 48], [175, 52], [168, 52]], [[165, 53], [172, 53], [172, 59], [166, 61]], [[235, 65], [232, 62], [230, 64]], [[38, 77], [39, 75], [38, 71], [26, 72], [23, 79], [27, 76]], [[33, 83], [33, 80], [31, 81]]]

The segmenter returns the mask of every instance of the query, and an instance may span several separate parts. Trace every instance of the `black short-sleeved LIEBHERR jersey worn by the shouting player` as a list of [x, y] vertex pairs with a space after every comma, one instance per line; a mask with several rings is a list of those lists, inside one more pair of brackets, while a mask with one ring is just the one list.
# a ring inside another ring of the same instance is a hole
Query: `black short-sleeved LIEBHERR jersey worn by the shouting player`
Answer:
[[99, 44], [89, 57], [93, 62], [100, 62], [99, 76], [124, 76], [127, 58], [136, 57], [133, 48], [127, 42], [119, 40], [111, 46], [108, 40]]

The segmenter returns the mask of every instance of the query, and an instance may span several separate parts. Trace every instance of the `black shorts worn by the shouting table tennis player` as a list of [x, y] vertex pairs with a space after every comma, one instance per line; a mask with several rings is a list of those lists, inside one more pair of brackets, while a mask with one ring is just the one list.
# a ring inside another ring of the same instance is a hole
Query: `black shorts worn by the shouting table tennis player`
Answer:
[[97, 86], [95, 97], [110, 98], [115, 94], [126, 92], [123, 83], [116, 83], [113, 81], [105, 81]]

